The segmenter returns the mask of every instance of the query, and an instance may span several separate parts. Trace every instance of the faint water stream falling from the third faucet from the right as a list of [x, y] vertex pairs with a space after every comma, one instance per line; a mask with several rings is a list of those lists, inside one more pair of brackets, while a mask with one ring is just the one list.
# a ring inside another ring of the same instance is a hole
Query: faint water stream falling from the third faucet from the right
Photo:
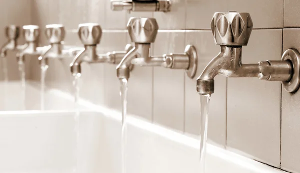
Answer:
[[80, 73], [77, 73], [74, 75], [74, 80], [73, 80], [73, 86], [74, 86], [74, 109], [75, 109], [75, 116], [74, 116], [74, 121], [75, 121], [75, 127], [74, 131], [76, 133], [76, 167], [74, 170], [74, 173], [79, 173], [80, 168], [79, 168], [79, 157], [80, 157], [80, 146], [79, 146], [79, 115], [80, 115], [80, 110], [79, 110], [79, 91], [80, 91]]

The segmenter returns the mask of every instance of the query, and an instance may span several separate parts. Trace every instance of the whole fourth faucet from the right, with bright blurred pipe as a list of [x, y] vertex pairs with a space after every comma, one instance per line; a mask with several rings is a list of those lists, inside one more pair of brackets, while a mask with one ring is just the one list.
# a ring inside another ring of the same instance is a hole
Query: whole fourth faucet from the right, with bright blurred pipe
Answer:
[[38, 60], [41, 66], [48, 64], [48, 58], [66, 58], [73, 57], [77, 52], [83, 48], [65, 48], [63, 39], [65, 36], [65, 29], [62, 24], [48, 24], [45, 29], [46, 37], [49, 41], [49, 46], [40, 54]]

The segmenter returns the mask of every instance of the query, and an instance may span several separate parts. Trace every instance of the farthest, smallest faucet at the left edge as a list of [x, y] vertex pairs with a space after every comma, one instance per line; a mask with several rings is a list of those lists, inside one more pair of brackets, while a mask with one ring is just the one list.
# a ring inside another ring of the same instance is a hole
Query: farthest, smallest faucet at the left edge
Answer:
[[5, 36], [8, 39], [0, 50], [0, 56], [6, 57], [7, 50], [21, 50], [24, 45], [17, 45], [17, 38], [19, 37], [19, 26], [8, 25], [5, 26]]

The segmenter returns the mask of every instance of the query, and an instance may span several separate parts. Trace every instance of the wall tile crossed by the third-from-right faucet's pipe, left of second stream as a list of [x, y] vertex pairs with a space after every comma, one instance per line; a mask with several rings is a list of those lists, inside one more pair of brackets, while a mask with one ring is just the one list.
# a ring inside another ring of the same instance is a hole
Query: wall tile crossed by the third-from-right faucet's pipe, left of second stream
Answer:
[[[109, 51], [120, 51], [124, 50], [126, 45], [126, 32], [104, 32], [100, 47], [103, 52]], [[121, 110], [121, 99], [120, 99], [120, 82], [116, 77], [116, 65], [108, 64], [103, 65], [104, 75], [103, 86], [104, 86], [104, 105], [112, 108]]]

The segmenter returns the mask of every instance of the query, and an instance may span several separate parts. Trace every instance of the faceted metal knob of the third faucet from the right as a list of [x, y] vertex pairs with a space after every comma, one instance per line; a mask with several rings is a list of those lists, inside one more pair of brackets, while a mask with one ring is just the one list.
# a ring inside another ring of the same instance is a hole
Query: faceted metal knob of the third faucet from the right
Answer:
[[78, 36], [84, 45], [100, 43], [102, 29], [97, 23], [81, 23], [78, 25]]

